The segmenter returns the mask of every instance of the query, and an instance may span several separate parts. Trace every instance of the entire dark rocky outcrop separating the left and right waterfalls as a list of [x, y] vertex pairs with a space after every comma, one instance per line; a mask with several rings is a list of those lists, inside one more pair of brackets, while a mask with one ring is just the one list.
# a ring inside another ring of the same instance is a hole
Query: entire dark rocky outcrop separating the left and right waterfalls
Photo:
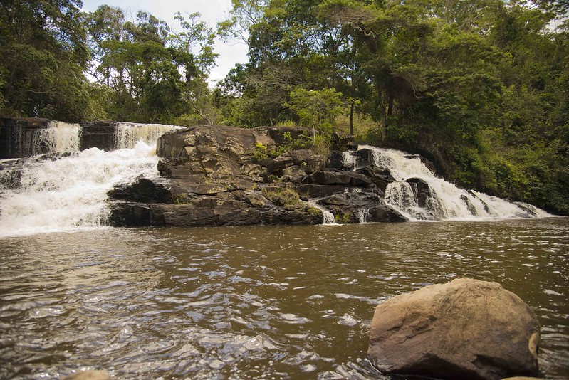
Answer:
[[[160, 180], [140, 179], [109, 192], [114, 226], [230, 226], [404, 221], [382, 201], [392, 176], [375, 167], [341, 164], [303, 147], [298, 127], [244, 129], [198, 125], [157, 142]], [[308, 139], [308, 141], [310, 141]], [[354, 148], [335, 135], [335, 149]], [[334, 162], [333, 165], [330, 165]], [[331, 167], [333, 166], [333, 167]]]

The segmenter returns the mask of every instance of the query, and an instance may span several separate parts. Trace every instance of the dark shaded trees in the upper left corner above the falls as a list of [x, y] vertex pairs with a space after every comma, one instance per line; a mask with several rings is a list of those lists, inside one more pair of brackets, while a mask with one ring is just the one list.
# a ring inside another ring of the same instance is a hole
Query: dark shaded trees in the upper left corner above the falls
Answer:
[[0, 113], [82, 120], [89, 52], [80, 0], [0, 5]]

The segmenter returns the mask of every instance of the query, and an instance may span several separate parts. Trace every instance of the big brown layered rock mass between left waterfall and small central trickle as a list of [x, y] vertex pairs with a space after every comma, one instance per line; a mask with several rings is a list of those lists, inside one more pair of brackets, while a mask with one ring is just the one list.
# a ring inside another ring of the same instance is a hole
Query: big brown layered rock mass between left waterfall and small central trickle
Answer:
[[157, 142], [161, 179], [120, 186], [111, 223], [117, 226], [318, 224], [319, 209], [299, 198], [296, 184], [325, 164], [309, 149], [281, 149], [303, 130], [195, 126]]

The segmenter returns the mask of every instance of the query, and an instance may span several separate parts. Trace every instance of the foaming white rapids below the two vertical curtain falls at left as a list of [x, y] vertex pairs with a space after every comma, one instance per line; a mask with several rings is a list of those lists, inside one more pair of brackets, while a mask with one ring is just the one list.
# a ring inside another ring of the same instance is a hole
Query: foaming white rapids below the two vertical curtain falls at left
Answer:
[[110, 210], [107, 192], [138, 176], [157, 176], [155, 147], [84, 150], [56, 160], [30, 161], [20, 186], [1, 189], [0, 236], [103, 226]]

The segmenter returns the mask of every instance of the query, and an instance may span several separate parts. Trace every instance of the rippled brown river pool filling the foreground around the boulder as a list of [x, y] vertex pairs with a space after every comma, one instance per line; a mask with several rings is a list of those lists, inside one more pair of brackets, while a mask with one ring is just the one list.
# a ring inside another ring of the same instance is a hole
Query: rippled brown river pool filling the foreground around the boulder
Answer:
[[569, 377], [569, 219], [107, 229], [0, 240], [0, 378], [380, 378], [375, 305], [498, 281], [536, 311], [545, 377]]

